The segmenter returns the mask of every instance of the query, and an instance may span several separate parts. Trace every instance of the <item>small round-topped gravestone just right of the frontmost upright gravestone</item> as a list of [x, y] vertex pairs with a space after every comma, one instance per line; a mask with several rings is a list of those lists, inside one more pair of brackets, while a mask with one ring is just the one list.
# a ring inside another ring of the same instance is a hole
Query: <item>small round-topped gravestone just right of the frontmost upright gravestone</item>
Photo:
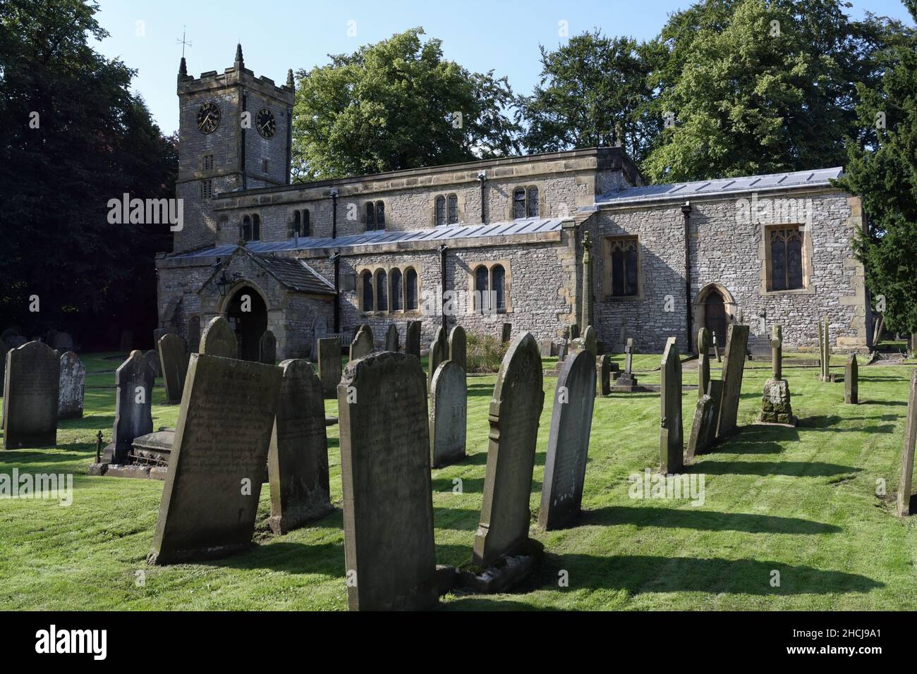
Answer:
[[430, 463], [441, 468], [465, 458], [468, 390], [465, 369], [453, 360], [439, 364], [430, 384]]

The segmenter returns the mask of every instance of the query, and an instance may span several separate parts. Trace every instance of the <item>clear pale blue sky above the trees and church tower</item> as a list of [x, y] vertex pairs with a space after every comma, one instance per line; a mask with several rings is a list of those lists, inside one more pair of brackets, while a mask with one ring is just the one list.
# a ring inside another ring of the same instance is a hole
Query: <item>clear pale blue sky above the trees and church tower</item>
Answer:
[[[910, 22], [900, 0], [852, 1], [853, 17], [862, 17], [868, 10]], [[443, 40], [447, 59], [473, 71], [507, 75], [516, 93], [528, 94], [540, 73], [538, 45], [556, 48], [566, 41], [558, 36], [560, 21], [568, 22], [569, 35], [602, 28], [607, 35], [649, 39], [657, 35], [669, 13], [691, 5], [691, 0], [98, 2], [96, 17], [110, 37], [95, 43], [95, 49], [121, 58], [138, 71], [134, 89], [166, 133], [178, 127], [175, 76], [182, 45], [177, 39], [185, 26], [193, 45], [185, 52], [193, 75], [231, 67], [236, 43], [241, 41], [246, 67], [283, 83], [288, 68], [323, 65], [329, 53], [349, 53], [359, 45], [422, 26], [427, 37]], [[139, 27], [138, 21], [143, 22]], [[348, 36], [349, 21], [356, 22], [355, 37]]]

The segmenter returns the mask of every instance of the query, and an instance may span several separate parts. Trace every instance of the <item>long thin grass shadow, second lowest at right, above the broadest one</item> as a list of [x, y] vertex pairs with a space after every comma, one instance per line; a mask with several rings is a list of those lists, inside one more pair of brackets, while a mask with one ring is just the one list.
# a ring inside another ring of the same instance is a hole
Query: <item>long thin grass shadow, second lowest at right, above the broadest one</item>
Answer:
[[749, 534], [838, 534], [836, 525], [803, 520], [799, 517], [779, 517], [769, 514], [716, 513], [707, 510], [632, 507], [609, 505], [583, 511], [581, 525], [637, 525], [702, 531], [744, 531]]

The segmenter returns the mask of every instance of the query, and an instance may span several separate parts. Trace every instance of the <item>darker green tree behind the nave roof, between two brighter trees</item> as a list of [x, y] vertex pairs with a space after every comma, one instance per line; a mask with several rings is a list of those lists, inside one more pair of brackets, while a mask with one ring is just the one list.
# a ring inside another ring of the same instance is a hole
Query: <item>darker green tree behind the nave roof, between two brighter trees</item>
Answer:
[[662, 126], [648, 114], [652, 91], [646, 46], [601, 31], [541, 47], [541, 77], [521, 99], [529, 152], [609, 147], [620, 143], [639, 162]]

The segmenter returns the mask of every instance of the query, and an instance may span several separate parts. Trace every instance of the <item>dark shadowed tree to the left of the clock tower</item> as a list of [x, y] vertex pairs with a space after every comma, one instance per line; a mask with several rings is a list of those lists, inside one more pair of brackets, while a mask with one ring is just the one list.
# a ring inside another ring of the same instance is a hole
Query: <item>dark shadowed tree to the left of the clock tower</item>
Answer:
[[0, 0], [0, 316], [29, 335], [82, 328], [85, 346], [113, 321], [155, 326], [169, 227], [110, 225], [107, 203], [173, 196], [178, 168], [176, 139], [129, 91], [134, 72], [89, 46], [106, 35], [97, 9]]

